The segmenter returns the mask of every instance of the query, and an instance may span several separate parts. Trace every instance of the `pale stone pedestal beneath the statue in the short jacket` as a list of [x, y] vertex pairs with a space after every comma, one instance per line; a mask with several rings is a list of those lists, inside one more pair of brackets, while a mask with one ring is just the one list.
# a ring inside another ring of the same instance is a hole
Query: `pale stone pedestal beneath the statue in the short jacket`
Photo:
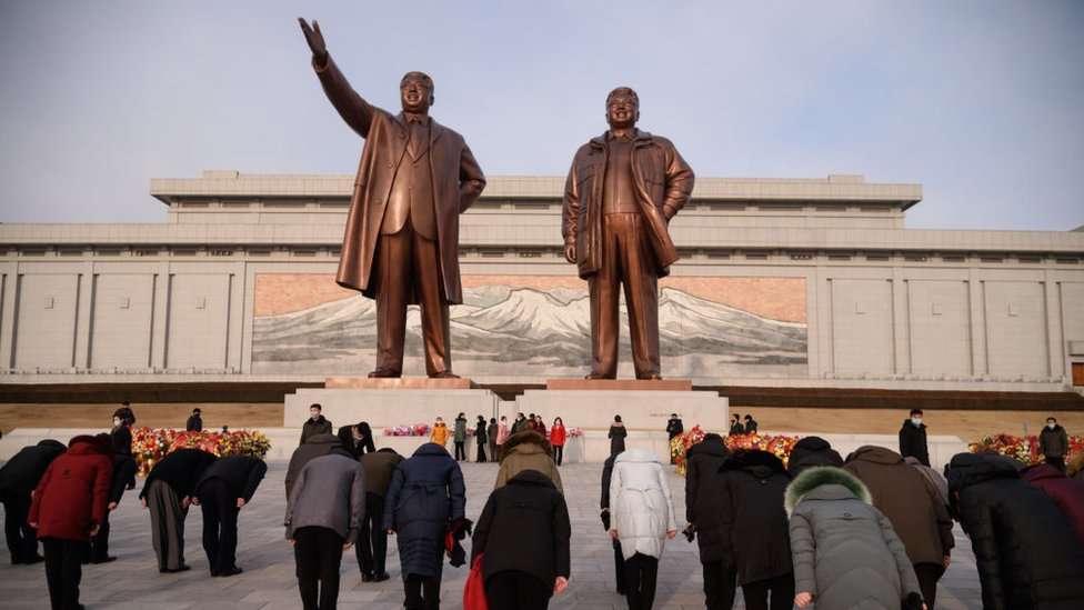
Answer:
[[[619, 381], [629, 383], [631, 380]], [[580, 381], [605, 384], [613, 381]], [[636, 381], [635, 383], [662, 383]], [[609, 430], [613, 416], [620, 414], [630, 431], [662, 431], [670, 413], [678, 413], [685, 429], [699, 424], [704, 431], [726, 433], [730, 430], [729, 401], [716, 392], [691, 390], [526, 390], [515, 402], [501, 406], [501, 414], [511, 423], [516, 412], [541, 414], [546, 427], [560, 417], [568, 428]]]

